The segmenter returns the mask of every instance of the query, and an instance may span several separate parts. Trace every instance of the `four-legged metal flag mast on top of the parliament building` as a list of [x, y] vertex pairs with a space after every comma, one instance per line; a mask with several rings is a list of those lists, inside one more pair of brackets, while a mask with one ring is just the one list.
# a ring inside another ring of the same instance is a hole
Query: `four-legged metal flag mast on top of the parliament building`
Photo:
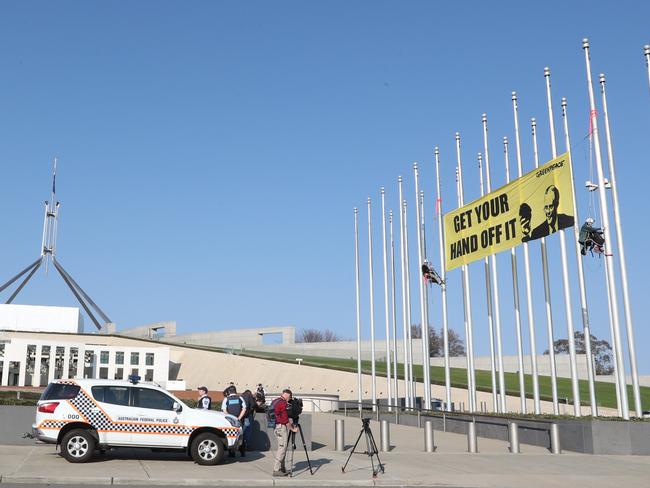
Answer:
[[41, 267], [43, 262], [45, 262], [45, 269], [47, 272], [49, 261], [52, 261], [54, 269], [58, 271], [63, 278], [63, 281], [72, 294], [75, 296], [81, 307], [85, 310], [90, 317], [90, 320], [93, 321], [97, 330], [101, 330], [102, 324], [92, 313], [91, 308], [99, 315], [99, 317], [104, 321], [105, 324], [112, 323], [111, 319], [102, 311], [101, 308], [88, 296], [81, 286], [74, 280], [72, 276], [63, 268], [63, 265], [56, 259], [56, 237], [58, 231], [58, 219], [59, 219], [59, 207], [61, 206], [60, 202], [56, 201], [56, 163], [57, 160], [54, 158], [54, 169], [52, 172], [52, 196], [50, 200], [45, 201], [45, 216], [43, 219], [43, 237], [41, 241], [41, 250], [40, 257], [34, 261], [32, 264], [23, 269], [20, 273], [10, 278], [2, 286], [0, 286], [0, 293], [5, 289], [9, 288], [13, 283], [27, 275], [23, 281], [20, 282], [16, 290], [11, 294], [11, 296], [5, 301], [5, 304], [10, 304], [22, 291], [22, 289], [27, 285], [29, 280], [36, 274], [38, 268]]

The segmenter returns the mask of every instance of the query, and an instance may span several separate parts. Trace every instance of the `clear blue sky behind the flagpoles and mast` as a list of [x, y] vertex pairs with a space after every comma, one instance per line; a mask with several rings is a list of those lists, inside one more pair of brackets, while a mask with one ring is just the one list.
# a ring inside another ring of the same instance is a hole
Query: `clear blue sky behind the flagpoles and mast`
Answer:
[[[500, 186], [501, 138], [513, 138], [516, 90], [524, 167], [532, 168], [530, 117], [538, 119], [540, 158], [550, 159], [544, 66], [552, 70], [558, 126], [560, 97], [569, 100], [578, 205], [581, 215], [589, 213], [581, 49], [589, 37], [594, 76], [608, 77], [639, 364], [649, 374], [642, 306], [650, 236], [645, 221], [635, 225], [648, 210], [642, 175], [650, 93], [642, 46], [650, 43], [649, 14], [639, 2], [3, 2], [0, 270], [9, 277], [38, 255], [56, 156], [58, 256], [118, 326], [176, 320], [180, 333], [293, 324], [353, 338], [352, 208], [363, 208], [368, 195], [378, 202], [381, 186], [395, 208], [399, 174], [412, 200], [411, 165], [418, 161], [427, 247], [437, 262], [433, 147], [441, 151], [445, 211], [456, 198], [456, 131], [466, 199], [477, 197], [486, 112], [493, 186]], [[560, 137], [558, 145], [564, 147]], [[377, 218], [381, 257], [379, 224]], [[565, 337], [557, 237], [549, 248], [555, 333]], [[534, 246], [531, 255], [543, 350]], [[498, 260], [504, 351], [514, 354], [509, 258]], [[593, 332], [608, 337], [602, 262], [585, 262]], [[376, 264], [383, 337], [380, 259]], [[483, 283], [477, 263], [477, 354], [488, 353]], [[449, 287], [451, 325], [462, 334], [458, 271]], [[521, 293], [523, 299], [523, 283]], [[414, 316], [416, 299], [414, 293]], [[573, 301], [579, 328], [577, 285]], [[75, 305], [52, 271], [39, 273], [18, 302]], [[434, 326], [438, 302], [432, 297]]]

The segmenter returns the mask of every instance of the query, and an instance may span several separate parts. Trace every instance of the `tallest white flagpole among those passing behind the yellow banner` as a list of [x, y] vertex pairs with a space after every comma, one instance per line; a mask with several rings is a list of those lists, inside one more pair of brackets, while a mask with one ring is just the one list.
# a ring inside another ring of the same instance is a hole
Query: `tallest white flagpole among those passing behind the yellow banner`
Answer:
[[[557, 157], [557, 145], [555, 144], [555, 120], [553, 116], [553, 101], [551, 97], [551, 70], [544, 68], [546, 79], [546, 104], [548, 106], [548, 123], [551, 136], [551, 155]], [[557, 210], [557, 209], [556, 209]], [[575, 219], [575, 217], [574, 217]], [[577, 222], [574, 221], [574, 226]], [[569, 341], [569, 363], [571, 365], [571, 390], [573, 393], [573, 414], [576, 417], [582, 415], [580, 408], [580, 388], [578, 386], [578, 362], [576, 360], [576, 343], [573, 328], [573, 307], [571, 305], [571, 284], [569, 282], [569, 264], [566, 252], [566, 236], [564, 229], [560, 229], [560, 257], [562, 259], [562, 283], [564, 285], [564, 311], [566, 316], [567, 336]]]

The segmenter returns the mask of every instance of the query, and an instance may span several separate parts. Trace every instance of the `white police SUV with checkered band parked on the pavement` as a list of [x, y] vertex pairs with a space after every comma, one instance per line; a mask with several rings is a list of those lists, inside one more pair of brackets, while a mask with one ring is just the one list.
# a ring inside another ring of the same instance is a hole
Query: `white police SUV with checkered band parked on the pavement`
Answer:
[[232, 415], [193, 409], [153, 384], [112, 380], [57, 380], [37, 404], [32, 434], [61, 446], [71, 463], [95, 449], [148, 447], [186, 451], [198, 464], [218, 464], [238, 449], [242, 428]]

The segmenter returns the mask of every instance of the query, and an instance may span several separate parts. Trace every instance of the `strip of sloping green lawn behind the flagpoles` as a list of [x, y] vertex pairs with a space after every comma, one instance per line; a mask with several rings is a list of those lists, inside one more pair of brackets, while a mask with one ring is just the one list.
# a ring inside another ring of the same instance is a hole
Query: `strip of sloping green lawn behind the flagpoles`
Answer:
[[[257, 351], [242, 351], [242, 356], [251, 356], [263, 359], [271, 359], [283, 362], [296, 362], [295, 354], [281, 354], [281, 353], [267, 353]], [[357, 371], [356, 359], [339, 359], [339, 358], [325, 358], [317, 356], [301, 356], [302, 364], [309, 366], [318, 366], [321, 368], [337, 369], [342, 371]], [[370, 361], [362, 361], [361, 368], [364, 373], [370, 373]], [[377, 362], [377, 375], [386, 375], [386, 363]], [[422, 381], [422, 366], [414, 366], [413, 371], [416, 379]], [[403, 364], [398, 365], [398, 374], [400, 377], [403, 375]], [[519, 395], [519, 375], [517, 373], [506, 373], [506, 391], [510, 395]], [[443, 367], [431, 367], [431, 383], [444, 385], [445, 384], [445, 370]], [[451, 368], [451, 385], [458, 388], [467, 388], [467, 373], [465, 369]], [[525, 375], [525, 389], [526, 396], [532, 398], [533, 396], [533, 381], [530, 375]], [[589, 404], [589, 385], [586, 380], [580, 380], [580, 400], [583, 405]], [[476, 371], [476, 388], [480, 391], [492, 391], [492, 380], [490, 371], [477, 370]], [[569, 378], [558, 378], [557, 380], [558, 398], [560, 401], [567, 401], [572, 403], [573, 393], [571, 391], [571, 380]], [[539, 389], [540, 397], [542, 400], [551, 400], [551, 377], [539, 376]], [[632, 387], [628, 385], [628, 398], [630, 406], [634, 405], [632, 396]], [[602, 381], [596, 382], [596, 400], [599, 406], [616, 408], [616, 391], [614, 383], [605, 383]], [[650, 409], [650, 388], [641, 387], [641, 402], [644, 410]]]

